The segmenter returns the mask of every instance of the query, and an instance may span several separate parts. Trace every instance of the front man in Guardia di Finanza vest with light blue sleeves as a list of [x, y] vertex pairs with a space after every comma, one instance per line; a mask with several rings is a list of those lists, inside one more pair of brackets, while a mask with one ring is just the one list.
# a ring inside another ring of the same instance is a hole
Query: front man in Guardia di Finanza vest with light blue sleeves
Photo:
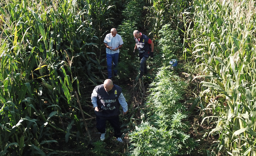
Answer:
[[128, 105], [123, 96], [122, 88], [113, 85], [111, 79], [106, 79], [104, 84], [98, 85], [92, 92], [92, 104], [96, 114], [96, 128], [101, 133], [100, 140], [105, 139], [106, 121], [114, 128], [117, 141], [123, 142], [119, 123], [119, 108], [123, 108], [123, 114], [128, 112]]

